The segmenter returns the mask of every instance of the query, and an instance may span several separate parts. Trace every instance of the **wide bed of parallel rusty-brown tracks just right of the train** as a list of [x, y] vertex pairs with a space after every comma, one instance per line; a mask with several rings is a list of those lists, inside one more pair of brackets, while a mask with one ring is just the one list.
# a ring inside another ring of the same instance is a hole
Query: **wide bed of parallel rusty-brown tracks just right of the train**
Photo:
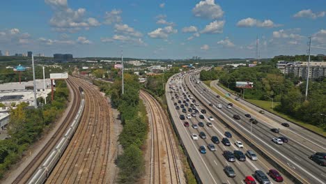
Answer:
[[71, 78], [84, 89], [84, 114], [47, 183], [109, 183], [116, 152], [110, 137], [111, 109], [97, 87]]

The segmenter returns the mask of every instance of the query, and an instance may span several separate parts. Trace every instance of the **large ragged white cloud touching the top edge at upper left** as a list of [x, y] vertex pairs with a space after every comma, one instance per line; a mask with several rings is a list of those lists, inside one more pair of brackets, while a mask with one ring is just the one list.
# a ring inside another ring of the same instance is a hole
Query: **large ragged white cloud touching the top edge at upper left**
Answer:
[[85, 17], [86, 9], [78, 8], [72, 10], [68, 7], [66, 0], [45, 0], [54, 11], [49, 24], [57, 29], [56, 31], [79, 31], [80, 28], [89, 29], [91, 26], [100, 26], [100, 22], [93, 17]]

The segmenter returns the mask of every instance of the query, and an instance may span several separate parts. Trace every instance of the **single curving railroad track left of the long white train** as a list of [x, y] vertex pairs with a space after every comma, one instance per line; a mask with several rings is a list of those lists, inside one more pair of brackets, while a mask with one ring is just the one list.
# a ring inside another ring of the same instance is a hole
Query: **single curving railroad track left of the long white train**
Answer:
[[28, 166], [22, 171], [22, 173], [17, 176], [15, 181], [13, 181], [13, 184], [16, 183], [27, 183], [31, 175], [38, 169], [40, 164], [43, 162], [43, 160], [46, 158], [46, 156], [49, 154], [50, 151], [52, 151], [52, 148], [56, 145], [56, 142], [61, 139], [63, 134], [65, 133], [66, 128], [68, 127], [69, 123], [75, 118], [75, 115], [77, 114], [77, 111], [79, 109], [79, 105], [81, 102], [81, 95], [78, 91], [78, 86], [76, 83], [72, 82], [70, 78], [66, 80], [69, 86], [72, 88], [72, 92], [74, 93], [74, 97], [72, 99], [72, 108], [70, 109], [70, 112], [68, 113], [68, 116], [65, 117], [63, 120], [63, 123], [59, 126], [59, 129], [54, 133], [51, 139], [45, 144], [45, 146], [41, 149], [41, 151], [36, 155], [36, 157], [28, 164]]

